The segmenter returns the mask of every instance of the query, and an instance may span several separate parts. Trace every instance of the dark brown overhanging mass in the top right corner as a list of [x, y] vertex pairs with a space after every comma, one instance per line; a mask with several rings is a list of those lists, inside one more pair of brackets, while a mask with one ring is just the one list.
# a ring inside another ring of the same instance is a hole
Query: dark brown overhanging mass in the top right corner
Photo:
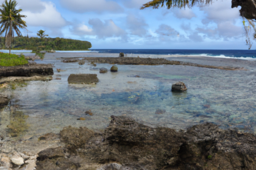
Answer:
[[256, 19], [255, 0], [232, 0], [232, 8], [241, 6], [240, 15], [247, 19]]

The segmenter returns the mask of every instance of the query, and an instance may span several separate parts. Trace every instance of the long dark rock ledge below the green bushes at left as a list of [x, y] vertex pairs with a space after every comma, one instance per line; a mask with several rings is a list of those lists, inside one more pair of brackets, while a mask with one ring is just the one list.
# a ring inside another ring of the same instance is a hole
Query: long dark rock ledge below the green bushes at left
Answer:
[[24, 66], [1, 67], [1, 77], [30, 77], [32, 75], [53, 75], [52, 64], [26, 64]]

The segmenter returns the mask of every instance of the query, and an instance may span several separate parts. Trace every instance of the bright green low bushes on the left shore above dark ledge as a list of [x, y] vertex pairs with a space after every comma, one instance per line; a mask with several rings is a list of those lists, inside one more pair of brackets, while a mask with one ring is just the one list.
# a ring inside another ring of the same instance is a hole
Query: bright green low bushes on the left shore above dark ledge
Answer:
[[0, 66], [20, 66], [29, 63], [24, 55], [0, 53]]

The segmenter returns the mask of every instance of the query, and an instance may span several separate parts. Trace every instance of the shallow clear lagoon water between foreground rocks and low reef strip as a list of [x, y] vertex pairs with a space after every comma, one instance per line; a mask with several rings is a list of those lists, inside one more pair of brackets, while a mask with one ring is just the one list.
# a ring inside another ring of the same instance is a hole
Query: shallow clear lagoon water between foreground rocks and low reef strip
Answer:
[[[32, 81], [13, 91], [12, 104], [19, 104], [20, 110], [29, 115], [26, 135], [59, 132], [69, 125], [101, 131], [111, 115], [127, 115], [149, 126], [175, 129], [213, 122], [222, 128], [256, 131], [254, 68], [226, 71], [188, 66], [118, 66], [117, 73], [100, 74], [87, 64], [60, 63], [47, 57], [37, 62], [53, 61], [54, 80]], [[97, 64], [100, 67], [110, 69], [111, 65]], [[56, 69], [64, 71], [58, 73]], [[97, 73], [100, 81], [96, 86], [69, 85], [71, 73]], [[187, 92], [171, 92], [171, 84], [177, 81], [187, 84]], [[87, 110], [93, 115], [85, 114]], [[85, 121], [78, 121], [80, 117]]]

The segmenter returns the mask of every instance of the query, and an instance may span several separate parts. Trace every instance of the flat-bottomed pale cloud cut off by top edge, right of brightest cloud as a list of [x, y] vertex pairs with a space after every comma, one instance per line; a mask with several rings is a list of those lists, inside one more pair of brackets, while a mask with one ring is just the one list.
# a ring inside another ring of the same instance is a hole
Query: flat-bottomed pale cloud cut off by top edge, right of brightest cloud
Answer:
[[106, 0], [60, 0], [60, 4], [66, 9], [77, 13], [85, 12], [122, 12], [118, 3]]

